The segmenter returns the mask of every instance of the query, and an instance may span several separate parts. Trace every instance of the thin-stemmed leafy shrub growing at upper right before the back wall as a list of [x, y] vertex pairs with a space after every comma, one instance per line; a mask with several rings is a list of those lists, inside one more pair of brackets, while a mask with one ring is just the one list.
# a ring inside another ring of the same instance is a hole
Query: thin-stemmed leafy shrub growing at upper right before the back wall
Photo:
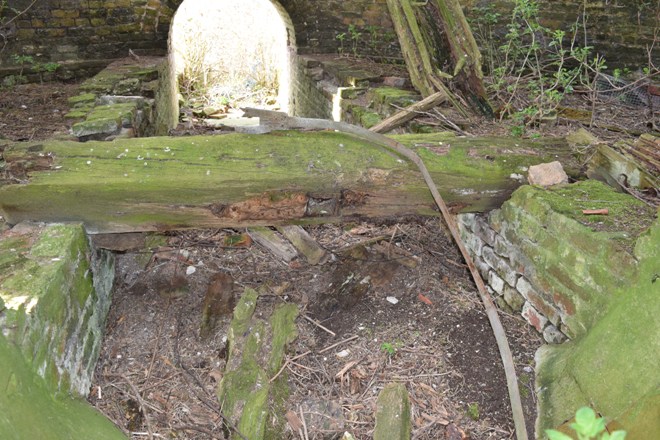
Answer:
[[492, 77], [490, 91], [500, 102], [502, 118], [510, 117], [512, 134], [555, 118], [557, 107], [577, 86], [593, 89], [591, 78], [607, 66], [590, 46], [577, 44], [581, 26], [549, 29], [539, 22], [539, 2], [514, 0], [503, 44], [494, 47], [493, 26], [500, 15], [488, 6], [473, 20], [475, 35], [485, 46]]

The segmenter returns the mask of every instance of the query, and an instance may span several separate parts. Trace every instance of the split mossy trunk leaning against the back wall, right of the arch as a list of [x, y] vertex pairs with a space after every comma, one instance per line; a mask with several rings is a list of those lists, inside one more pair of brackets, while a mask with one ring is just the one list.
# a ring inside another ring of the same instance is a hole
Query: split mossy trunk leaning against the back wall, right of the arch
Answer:
[[[411, 82], [423, 95], [444, 91], [463, 110], [443, 81], [451, 79], [473, 110], [492, 115], [483, 85], [481, 54], [458, 0], [387, 0]], [[452, 73], [440, 70], [449, 62]]]

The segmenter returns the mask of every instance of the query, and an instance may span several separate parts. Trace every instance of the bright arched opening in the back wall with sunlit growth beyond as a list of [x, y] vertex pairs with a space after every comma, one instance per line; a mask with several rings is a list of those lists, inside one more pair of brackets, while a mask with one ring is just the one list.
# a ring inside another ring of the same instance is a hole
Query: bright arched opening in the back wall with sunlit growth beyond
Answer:
[[289, 34], [269, 0], [185, 0], [170, 41], [185, 105], [288, 111]]

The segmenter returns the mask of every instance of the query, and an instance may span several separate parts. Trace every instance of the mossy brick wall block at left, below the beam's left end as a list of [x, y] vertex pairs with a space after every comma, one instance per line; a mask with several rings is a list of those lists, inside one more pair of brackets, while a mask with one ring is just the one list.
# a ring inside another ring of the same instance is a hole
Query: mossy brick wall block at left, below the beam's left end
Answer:
[[112, 254], [80, 224], [18, 225], [0, 237], [0, 331], [51, 392], [85, 397], [101, 348]]

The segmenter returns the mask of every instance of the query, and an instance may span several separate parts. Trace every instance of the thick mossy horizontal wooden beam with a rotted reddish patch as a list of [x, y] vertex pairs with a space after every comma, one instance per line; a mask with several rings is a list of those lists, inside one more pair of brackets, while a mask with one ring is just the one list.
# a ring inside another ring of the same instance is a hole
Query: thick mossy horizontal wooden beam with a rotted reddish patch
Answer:
[[[525, 167], [577, 164], [563, 139], [403, 135], [457, 211], [498, 207]], [[332, 131], [7, 144], [0, 213], [89, 232], [324, 223], [437, 215], [417, 168]], [[514, 174], [514, 178], [511, 175]]]

